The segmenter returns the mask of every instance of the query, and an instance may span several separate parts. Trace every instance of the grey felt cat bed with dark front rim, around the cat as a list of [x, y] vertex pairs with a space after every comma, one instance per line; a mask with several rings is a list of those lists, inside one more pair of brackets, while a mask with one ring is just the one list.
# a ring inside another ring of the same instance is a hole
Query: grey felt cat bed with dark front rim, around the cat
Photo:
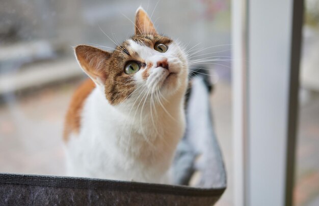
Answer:
[[175, 184], [0, 174], [0, 205], [212, 205], [226, 189], [226, 173], [212, 128], [204, 77], [193, 78], [188, 127], [174, 160]]

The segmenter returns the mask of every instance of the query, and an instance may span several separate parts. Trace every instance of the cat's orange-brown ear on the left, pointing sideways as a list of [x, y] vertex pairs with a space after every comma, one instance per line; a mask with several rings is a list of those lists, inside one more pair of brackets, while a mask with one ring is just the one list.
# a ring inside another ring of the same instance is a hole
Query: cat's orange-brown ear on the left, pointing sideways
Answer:
[[111, 54], [87, 45], [78, 45], [74, 50], [84, 72], [96, 84], [103, 86], [108, 77], [107, 66]]

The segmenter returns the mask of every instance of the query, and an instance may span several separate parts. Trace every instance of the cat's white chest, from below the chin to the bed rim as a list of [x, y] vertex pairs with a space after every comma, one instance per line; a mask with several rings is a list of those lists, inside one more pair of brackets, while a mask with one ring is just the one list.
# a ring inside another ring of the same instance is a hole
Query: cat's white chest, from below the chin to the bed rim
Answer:
[[158, 114], [157, 119], [147, 117], [146, 112], [137, 113], [134, 119], [99, 100], [94, 92], [88, 98], [81, 129], [68, 143], [75, 171], [85, 177], [121, 180], [162, 177], [184, 132], [183, 111], [169, 110], [173, 118]]

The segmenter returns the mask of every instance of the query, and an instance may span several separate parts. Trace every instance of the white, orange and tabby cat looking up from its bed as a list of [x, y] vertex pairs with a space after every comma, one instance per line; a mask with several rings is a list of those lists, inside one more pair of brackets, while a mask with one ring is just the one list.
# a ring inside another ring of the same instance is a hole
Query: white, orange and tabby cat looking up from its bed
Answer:
[[135, 35], [114, 51], [75, 47], [90, 77], [66, 115], [67, 175], [169, 183], [168, 171], [185, 130], [188, 60], [159, 35], [143, 8]]

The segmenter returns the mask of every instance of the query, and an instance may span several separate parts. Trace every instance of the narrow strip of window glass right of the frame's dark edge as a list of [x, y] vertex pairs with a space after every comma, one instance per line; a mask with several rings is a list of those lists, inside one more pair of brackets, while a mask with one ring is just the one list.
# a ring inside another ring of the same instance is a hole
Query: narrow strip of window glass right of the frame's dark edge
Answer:
[[305, 1], [295, 205], [319, 204], [319, 1]]

